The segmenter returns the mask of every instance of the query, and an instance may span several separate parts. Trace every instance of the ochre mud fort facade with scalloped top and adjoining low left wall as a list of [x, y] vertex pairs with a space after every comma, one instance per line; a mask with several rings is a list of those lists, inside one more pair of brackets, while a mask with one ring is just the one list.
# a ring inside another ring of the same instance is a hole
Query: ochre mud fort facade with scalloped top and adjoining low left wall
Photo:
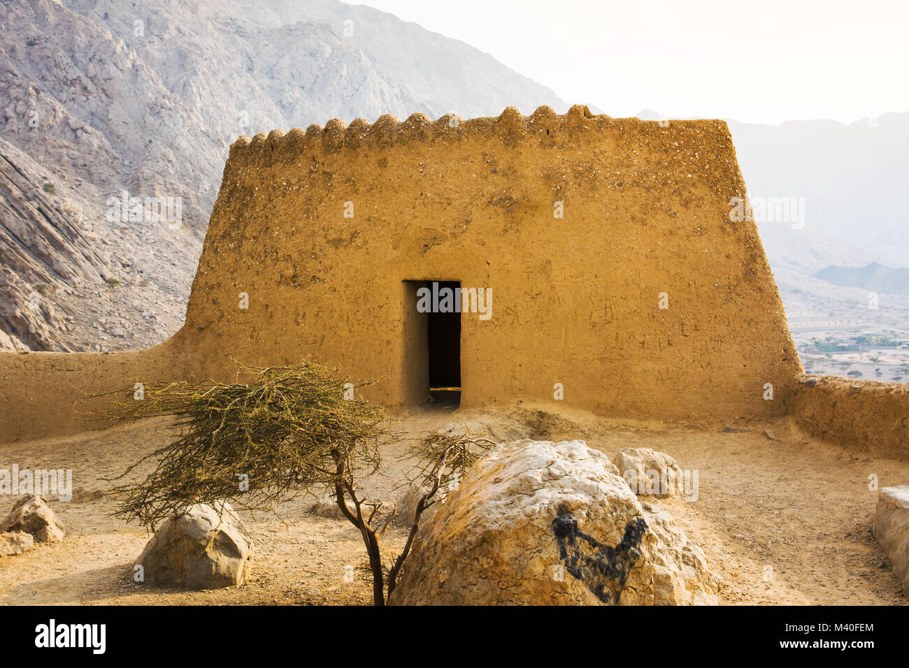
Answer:
[[789, 414], [802, 368], [756, 227], [729, 220], [744, 196], [722, 121], [509, 108], [241, 137], [183, 329], [137, 353], [0, 355], [0, 424], [65, 433], [71, 379], [232, 380], [232, 360], [310, 357], [413, 405], [425, 337], [407, 282], [432, 280], [493, 294], [488, 320], [462, 314], [463, 406]]

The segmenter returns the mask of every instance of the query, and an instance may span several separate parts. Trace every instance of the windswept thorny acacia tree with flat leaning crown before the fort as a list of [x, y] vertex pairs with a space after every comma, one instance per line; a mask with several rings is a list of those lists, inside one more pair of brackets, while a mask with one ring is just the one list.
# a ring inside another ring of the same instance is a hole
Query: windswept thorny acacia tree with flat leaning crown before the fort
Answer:
[[[296, 366], [240, 365], [250, 384], [145, 384], [142, 398], [119, 390], [117, 402], [95, 416], [116, 421], [156, 415], [176, 417], [178, 435], [129, 466], [124, 477], [147, 460], [154, 471], [141, 483], [117, 489], [124, 495], [115, 512], [153, 529], [184, 513], [189, 505], [214, 508], [231, 501], [248, 510], [275, 512], [301, 492], [328, 489], [345, 518], [363, 537], [373, 574], [373, 598], [385, 605], [414, 542], [420, 516], [450, 484], [493, 445], [484, 439], [432, 434], [416, 448], [415, 472], [424, 487], [404, 551], [387, 570], [379, 539], [395, 517], [380, 502], [369, 502], [357, 479], [375, 473], [381, 446], [395, 438], [385, 409], [345, 393], [336, 370], [304, 362]], [[345, 398], [347, 397], [347, 398]], [[387, 583], [387, 588], [385, 584]], [[387, 589], [387, 591], [386, 591]]]

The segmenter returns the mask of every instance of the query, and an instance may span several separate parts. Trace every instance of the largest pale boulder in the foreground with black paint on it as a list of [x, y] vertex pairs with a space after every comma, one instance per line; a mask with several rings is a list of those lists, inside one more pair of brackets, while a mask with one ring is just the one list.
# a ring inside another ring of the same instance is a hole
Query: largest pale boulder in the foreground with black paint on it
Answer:
[[499, 445], [421, 523], [395, 604], [716, 603], [704, 553], [584, 441]]

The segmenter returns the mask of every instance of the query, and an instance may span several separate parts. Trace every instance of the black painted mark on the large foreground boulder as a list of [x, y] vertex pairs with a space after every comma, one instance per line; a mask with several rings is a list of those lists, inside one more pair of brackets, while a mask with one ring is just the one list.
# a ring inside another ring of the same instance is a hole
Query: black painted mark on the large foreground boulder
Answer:
[[641, 556], [639, 546], [646, 530], [644, 518], [635, 517], [625, 525], [622, 542], [611, 547], [581, 531], [574, 515], [562, 508], [553, 520], [555, 541], [565, 569], [609, 605], [618, 602], [628, 571]]

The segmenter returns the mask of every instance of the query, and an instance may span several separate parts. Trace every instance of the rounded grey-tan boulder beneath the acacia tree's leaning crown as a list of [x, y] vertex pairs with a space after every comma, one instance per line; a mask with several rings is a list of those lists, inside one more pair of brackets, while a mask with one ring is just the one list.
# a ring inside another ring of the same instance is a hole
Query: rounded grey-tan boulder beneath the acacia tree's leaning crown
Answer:
[[[220, 506], [219, 506], [220, 507]], [[253, 546], [230, 504], [219, 516], [198, 503], [165, 520], [134, 565], [146, 583], [184, 589], [219, 589], [243, 584], [249, 576]]]

